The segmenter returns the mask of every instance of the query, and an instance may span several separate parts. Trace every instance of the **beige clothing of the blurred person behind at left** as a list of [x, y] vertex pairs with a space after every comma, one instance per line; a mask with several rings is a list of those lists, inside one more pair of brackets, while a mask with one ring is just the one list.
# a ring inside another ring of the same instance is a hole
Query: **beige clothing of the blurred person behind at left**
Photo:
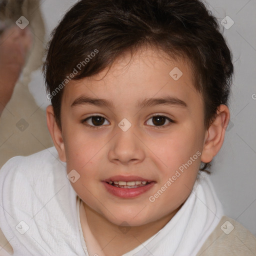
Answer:
[[[45, 48], [44, 23], [39, 0], [6, 0], [1, 7], [0, 19], [14, 21], [23, 15], [33, 36], [22, 78], [15, 85], [12, 97], [0, 117], [0, 167], [16, 155], [30, 155], [53, 145], [47, 126], [45, 111], [40, 109], [28, 90], [33, 70], [41, 69]], [[41, 86], [44, 86], [43, 82]]]

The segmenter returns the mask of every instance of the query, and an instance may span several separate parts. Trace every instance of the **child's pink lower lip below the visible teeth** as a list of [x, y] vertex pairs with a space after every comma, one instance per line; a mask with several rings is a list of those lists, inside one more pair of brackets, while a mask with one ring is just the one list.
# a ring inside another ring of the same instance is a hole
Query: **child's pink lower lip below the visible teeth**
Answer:
[[116, 187], [113, 185], [110, 185], [109, 183], [102, 181], [106, 190], [118, 197], [122, 198], [131, 198], [131, 197], [136, 197], [146, 191], [148, 191], [153, 185], [154, 181], [150, 182], [147, 185], [140, 186], [140, 187], [133, 187], [133, 188], [121, 188], [121, 187]]

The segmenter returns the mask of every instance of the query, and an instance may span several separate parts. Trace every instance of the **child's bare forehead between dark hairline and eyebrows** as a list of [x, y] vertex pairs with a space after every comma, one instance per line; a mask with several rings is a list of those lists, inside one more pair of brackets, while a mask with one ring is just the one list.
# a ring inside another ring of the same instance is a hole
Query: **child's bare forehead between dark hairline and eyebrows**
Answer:
[[170, 58], [161, 50], [141, 48], [126, 52], [100, 73], [71, 80], [65, 86], [62, 104], [71, 107], [81, 96], [104, 98], [111, 106], [138, 106], [144, 98], [172, 96], [185, 102], [200, 102], [189, 61]]

